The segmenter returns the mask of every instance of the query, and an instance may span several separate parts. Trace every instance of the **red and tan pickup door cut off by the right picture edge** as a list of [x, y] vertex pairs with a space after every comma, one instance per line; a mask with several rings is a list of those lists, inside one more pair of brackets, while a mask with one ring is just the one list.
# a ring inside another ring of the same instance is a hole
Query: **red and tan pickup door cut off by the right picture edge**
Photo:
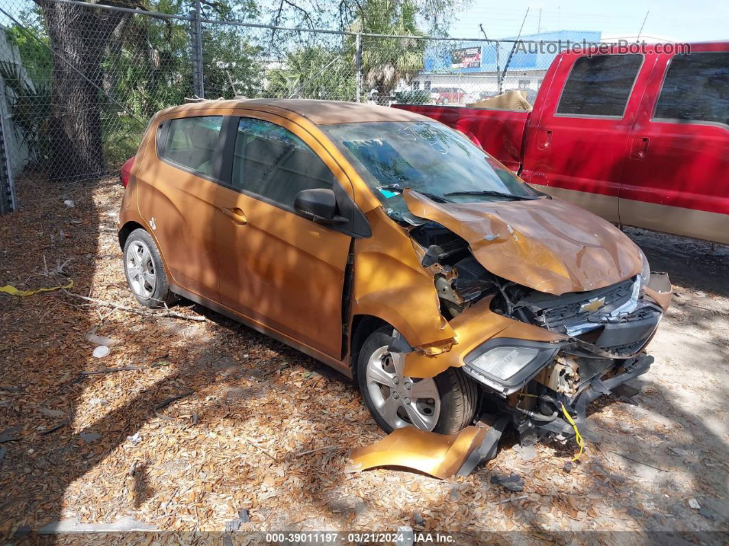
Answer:
[[628, 144], [623, 223], [729, 243], [729, 47], [721, 47], [660, 55]]

